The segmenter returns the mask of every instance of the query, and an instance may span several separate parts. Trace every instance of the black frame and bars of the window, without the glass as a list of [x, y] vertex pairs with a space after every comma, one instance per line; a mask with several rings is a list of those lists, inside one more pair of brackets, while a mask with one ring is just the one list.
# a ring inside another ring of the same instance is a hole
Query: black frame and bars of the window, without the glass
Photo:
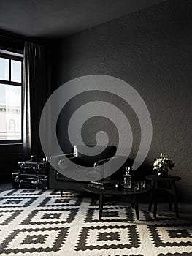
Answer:
[[[21, 139], [20, 140], [1, 140], [0, 139], [0, 145], [1, 144], [17, 144], [17, 143], [23, 143], [23, 54], [18, 54], [16, 52], [9, 52], [9, 53], [3, 53], [0, 51], [0, 58], [9, 59], [9, 81], [8, 80], [1, 80], [0, 83], [7, 84], [10, 86], [20, 86], [21, 87]], [[11, 60], [14, 61], [20, 61], [21, 62], [21, 82], [12, 82], [11, 81]]]

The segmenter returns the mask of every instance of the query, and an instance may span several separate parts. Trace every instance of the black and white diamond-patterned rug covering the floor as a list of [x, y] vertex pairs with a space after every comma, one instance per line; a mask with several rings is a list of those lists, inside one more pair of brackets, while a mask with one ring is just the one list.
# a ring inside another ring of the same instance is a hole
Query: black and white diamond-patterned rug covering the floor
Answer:
[[72, 192], [0, 192], [0, 255], [192, 255], [192, 224]]

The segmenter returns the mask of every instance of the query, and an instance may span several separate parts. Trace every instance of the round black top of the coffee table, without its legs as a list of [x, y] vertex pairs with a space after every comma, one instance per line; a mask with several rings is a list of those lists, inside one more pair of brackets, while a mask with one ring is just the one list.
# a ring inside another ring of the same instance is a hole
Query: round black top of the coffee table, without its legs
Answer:
[[[117, 183], [120, 184], [120, 183]], [[145, 189], [140, 189], [140, 190], [134, 190], [134, 189], [123, 189], [123, 190], [118, 190], [116, 188], [114, 189], [99, 189], [97, 187], [89, 187], [88, 184], [83, 186], [83, 189], [87, 192], [91, 192], [94, 194], [103, 194], [103, 195], [137, 195], [137, 194], [143, 194], [145, 192], [149, 192], [152, 187], [148, 184], [146, 184]]]

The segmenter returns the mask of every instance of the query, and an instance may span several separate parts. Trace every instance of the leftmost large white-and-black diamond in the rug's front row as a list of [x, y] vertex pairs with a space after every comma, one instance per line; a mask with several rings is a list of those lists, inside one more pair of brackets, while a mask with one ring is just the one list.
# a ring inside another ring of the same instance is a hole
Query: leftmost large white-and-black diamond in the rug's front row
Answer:
[[69, 227], [14, 230], [0, 244], [0, 253], [57, 252], [68, 232]]

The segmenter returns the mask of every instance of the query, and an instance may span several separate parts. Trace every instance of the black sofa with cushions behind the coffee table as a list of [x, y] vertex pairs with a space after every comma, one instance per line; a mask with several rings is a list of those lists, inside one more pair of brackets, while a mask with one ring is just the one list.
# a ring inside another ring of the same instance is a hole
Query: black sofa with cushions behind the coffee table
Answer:
[[[74, 191], [83, 191], [83, 186], [88, 183], [80, 179], [82, 173], [85, 172], [85, 167], [88, 167], [88, 175], [89, 178], [93, 175], [93, 180], [101, 179], [99, 176], [99, 172], [101, 171], [101, 166], [104, 162], [110, 162], [113, 165], [115, 161], [121, 161], [123, 156], [113, 157], [116, 152], [116, 146], [96, 146], [99, 148], [99, 152], [101, 153], [96, 154], [94, 156], [88, 156], [86, 154], [82, 154], [82, 149], [84, 146], [74, 146], [74, 152], [72, 154], [63, 154], [50, 157], [50, 188], [51, 189], [59, 189], [61, 190], [61, 195], [63, 190], [74, 190]], [[93, 146], [89, 146], [90, 148]], [[112, 158], [113, 157], [113, 158]], [[124, 159], [125, 157], [123, 157]], [[78, 170], [72, 169], [70, 163], [77, 163]], [[131, 167], [133, 164], [132, 159], [127, 159], [126, 162], [112, 175], [107, 176], [104, 179], [112, 179], [112, 180], [122, 180], [123, 181], [123, 174], [125, 173], [125, 167]], [[55, 166], [56, 168], [54, 168]], [[72, 172], [76, 172], [75, 179], [69, 178]], [[64, 175], [65, 173], [69, 173], [69, 175]], [[85, 176], [85, 173], [83, 173]]]

